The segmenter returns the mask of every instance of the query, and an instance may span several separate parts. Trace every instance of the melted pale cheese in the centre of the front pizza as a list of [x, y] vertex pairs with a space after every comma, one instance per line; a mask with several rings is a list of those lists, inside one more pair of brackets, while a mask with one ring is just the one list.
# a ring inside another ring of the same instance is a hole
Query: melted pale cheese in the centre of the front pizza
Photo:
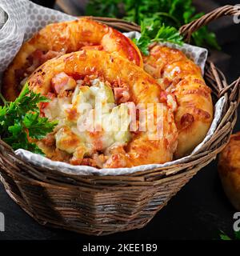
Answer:
[[130, 115], [126, 104], [114, 105], [114, 94], [106, 83], [94, 79], [92, 86], [77, 81], [70, 96], [54, 98], [43, 110], [57, 119], [56, 147], [82, 159], [97, 150], [107, 154], [113, 146], [130, 141]]

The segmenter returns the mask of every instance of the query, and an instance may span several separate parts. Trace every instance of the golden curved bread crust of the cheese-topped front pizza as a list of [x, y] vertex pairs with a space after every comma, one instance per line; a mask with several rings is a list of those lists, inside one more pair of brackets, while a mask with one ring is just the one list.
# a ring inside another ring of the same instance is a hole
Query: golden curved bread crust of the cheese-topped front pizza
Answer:
[[[52, 90], [52, 78], [62, 72], [71, 78], [96, 75], [111, 86], [121, 81], [129, 87], [129, 101], [135, 104], [142, 103], [144, 106], [148, 103], [153, 104], [148, 114], [156, 116], [157, 103], [161, 102], [162, 89], [154, 78], [126, 58], [99, 50], [82, 50], [66, 54], [38, 67], [28, 79], [30, 89], [47, 95]], [[154, 124], [156, 124], [158, 120], [154, 119]], [[151, 137], [156, 134], [157, 130], [133, 133], [127, 146], [117, 151], [113, 150], [103, 167], [130, 167], [171, 161], [176, 149], [178, 133], [172, 110], [165, 101], [162, 102], [162, 121], [162, 137], [158, 139]], [[148, 122], [150, 121], [147, 118], [147, 125]]]

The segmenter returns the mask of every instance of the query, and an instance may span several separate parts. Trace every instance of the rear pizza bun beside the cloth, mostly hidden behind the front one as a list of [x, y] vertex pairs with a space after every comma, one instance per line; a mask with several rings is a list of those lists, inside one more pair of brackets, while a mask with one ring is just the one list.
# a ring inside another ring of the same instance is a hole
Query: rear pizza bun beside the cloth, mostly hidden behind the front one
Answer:
[[2, 81], [2, 94], [13, 101], [19, 94], [19, 83], [38, 66], [50, 58], [81, 49], [116, 52], [138, 66], [142, 56], [138, 47], [118, 32], [90, 18], [59, 22], [46, 26], [25, 42], [6, 70]]

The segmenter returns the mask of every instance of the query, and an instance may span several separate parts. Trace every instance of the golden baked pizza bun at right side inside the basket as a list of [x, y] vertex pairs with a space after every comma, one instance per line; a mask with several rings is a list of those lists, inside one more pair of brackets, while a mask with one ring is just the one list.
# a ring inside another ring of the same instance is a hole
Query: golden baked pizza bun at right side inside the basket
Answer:
[[190, 154], [205, 138], [213, 120], [210, 88], [206, 86], [200, 68], [180, 50], [166, 46], [151, 48], [143, 62], [144, 70], [177, 99], [174, 118], [179, 134], [175, 157]]

